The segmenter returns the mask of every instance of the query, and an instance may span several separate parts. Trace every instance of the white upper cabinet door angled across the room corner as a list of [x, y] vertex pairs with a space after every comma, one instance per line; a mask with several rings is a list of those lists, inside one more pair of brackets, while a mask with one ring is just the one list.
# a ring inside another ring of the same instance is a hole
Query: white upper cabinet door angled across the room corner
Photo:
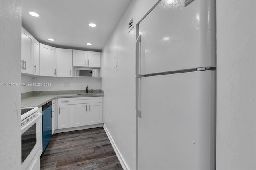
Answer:
[[56, 48], [40, 43], [40, 75], [56, 77]]

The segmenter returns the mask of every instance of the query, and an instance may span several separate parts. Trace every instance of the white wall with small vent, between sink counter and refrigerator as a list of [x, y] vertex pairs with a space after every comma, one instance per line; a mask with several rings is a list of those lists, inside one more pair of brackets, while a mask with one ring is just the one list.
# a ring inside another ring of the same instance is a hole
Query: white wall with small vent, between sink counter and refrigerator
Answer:
[[[133, 18], [134, 25], [136, 25], [156, 2], [157, 0], [132, 1], [102, 53], [105, 125], [130, 170], [136, 169], [136, 26], [130, 33], [127, 33], [128, 22]], [[118, 70], [114, 71], [117, 44]]]

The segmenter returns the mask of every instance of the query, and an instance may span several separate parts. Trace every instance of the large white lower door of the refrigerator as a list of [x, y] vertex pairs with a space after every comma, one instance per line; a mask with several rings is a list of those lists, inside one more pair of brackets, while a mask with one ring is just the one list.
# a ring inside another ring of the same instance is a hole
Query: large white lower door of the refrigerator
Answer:
[[215, 170], [216, 72], [143, 77], [139, 170]]

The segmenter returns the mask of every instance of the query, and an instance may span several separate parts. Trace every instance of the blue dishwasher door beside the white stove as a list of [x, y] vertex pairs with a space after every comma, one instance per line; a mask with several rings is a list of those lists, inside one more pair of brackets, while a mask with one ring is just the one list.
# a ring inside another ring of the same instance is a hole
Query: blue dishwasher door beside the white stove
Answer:
[[43, 110], [43, 152], [52, 138], [52, 105]]

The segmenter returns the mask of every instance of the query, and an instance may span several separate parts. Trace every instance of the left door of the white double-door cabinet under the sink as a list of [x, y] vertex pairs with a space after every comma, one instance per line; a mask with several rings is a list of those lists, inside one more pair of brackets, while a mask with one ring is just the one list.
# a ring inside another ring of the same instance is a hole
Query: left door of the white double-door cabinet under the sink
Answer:
[[88, 125], [88, 110], [87, 104], [72, 105], [72, 127]]

